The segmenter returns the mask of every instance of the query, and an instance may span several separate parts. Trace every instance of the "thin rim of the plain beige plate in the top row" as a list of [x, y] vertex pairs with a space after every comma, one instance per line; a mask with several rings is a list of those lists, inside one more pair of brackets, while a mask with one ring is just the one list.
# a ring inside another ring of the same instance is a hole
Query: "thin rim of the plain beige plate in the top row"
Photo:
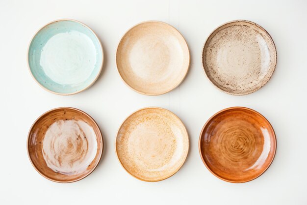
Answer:
[[[187, 65], [186, 72], [185, 72], [183, 78], [181, 79], [181, 81], [178, 83], [178, 85], [176, 85], [176, 86], [174, 86], [174, 87], [168, 89], [167, 91], [160, 92], [160, 93], [158, 93], [158, 94], [152, 94], [152, 93], [148, 93], [148, 92], [142, 92], [142, 91], [140, 91], [140, 90], [137, 90], [137, 89], [135, 89], [135, 88], [132, 88], [132, 87], [131, 87], [130, 85], [128, 85], [128, 83], [124, 80], [124, 78], [123, 78], [121, 72], [120, 72], [119, 69], [118, 69], [118, 60], [117, 60], [117, 57], [118, 57], [118, 47], [119, 47], [119, 45], [122, 43], [123, 38], [124, 38], [124, 37], [127, 35], [127, 33], [128, 33], [131, 29], [133, 29], [134, 27], [137, 27], [137, 26], [139, 26], [139, 25], [141, 25], [141, 24], [146, 24], [146, 23], [160, 23], [160, 24], [164, 24], [164, 25], [166, 25], [166, 26], [169, 26], [169, 27], [175, 29], [175, 30], [179, 33], [179, 35], [183, 38], [183, 42], [184, 42], [184, 44], [186, 45], [187, 50], [188, 50], [188, 65]], [[189, 70], [190, 70], [191, 55], [190, 55], [189, 46], [188, 46], [188, 44], [187, 44], [185, 38], [183, 37], [182, 33], [180, 33], [180, 31], [179, 31], [178, 29], [176, 29], [174, 26], [172, 26], [172, 25], [170, 25], [170, 24], [168, 24], [168, 23], [165, 23], [165, 22], [163, 22], [163, 21], [148, 20], [148, 21], [142, 21], [142, 22], [140, 22], [140, 23], [138, 23], [138, 24], [133, 25], [132, 27], [130, 27], [130, 28], [122, 35], [122, 37], [121, 37], [121, 39], [120, 39], [120, 41], [119, 41], [119, 43], [118, 43], [118, 45], [117, 45], [117, 48], [116, 48], [115, 63], [116, 63], [116, 70], [117, 70], [119, 76], [121, 77], [122, 81], [126, 84], [126, 86], [128, 86], [128, 88], [134, 90], [134, 91], [137, 92], [137, 93], [143, 94], [143, 95], [158, 96], [158, 95], [163, 95], [163, 94], [165, 94], [165, 93], [168, 93], [168, 92], [172, 91], [173, 89], [179, 87], [179, 85], [184, 81], [185, 77], [187, 76], [187, 74], [188, 74], [188, 72], [189, 72]]]

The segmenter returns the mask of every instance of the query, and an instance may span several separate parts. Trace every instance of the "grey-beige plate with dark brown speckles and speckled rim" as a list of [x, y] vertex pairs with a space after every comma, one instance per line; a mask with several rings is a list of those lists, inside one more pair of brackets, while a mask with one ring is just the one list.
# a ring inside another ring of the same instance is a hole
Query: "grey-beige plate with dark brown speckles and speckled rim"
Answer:
[[232, 95], [250, 94], [263, 87], [273, 75], [276, 62], [276, 48], [269, 33], [245, 20], [215, 29], [202, 53], [208, 79]]

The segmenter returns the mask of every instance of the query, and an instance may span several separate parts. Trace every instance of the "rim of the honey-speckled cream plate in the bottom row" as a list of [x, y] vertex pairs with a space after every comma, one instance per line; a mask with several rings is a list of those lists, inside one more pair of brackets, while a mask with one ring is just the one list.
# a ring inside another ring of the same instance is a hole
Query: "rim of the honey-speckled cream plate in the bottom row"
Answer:
[[[178, 118], [178, 119], [179, 119], [179, 122], [181, 122], [181, 124], [183, 125], [183, 128], [184, 128], [184, 130], [185, 130], [185, 134], [186, 134], [186, 136], [187, 136], [187, 146], [188, 146], [188, 147], [187, 147], [187, 153], [186, 153], [186, 155], [185, 155], [185, 158], [184, 158], [182, 164], [180, 164], [179, 168], [176, 169], [170, 176], [166, 176], [166, 177], [163, 177], [163, 178], [161, 178], [161, 179], [156, 179], [156, 180], [147, 180], [147, 179], [143, 179], [143, 178], [140, 178], [140, 177], [138, 177], [138, 176], [134, 176], [133, 174], [131, 174], [131, 173], [124, 167], [124, 165], [122, 164], [121, 160], [119, 159], [118, 152], [117, 152], [117, 148], [116, 148], [116, 147], [117, 147], [117, 146], [116, 146], [116, 142], [117, 142], [118, 134], [119, 134], [119, 131], [120, 131], [120, 129], [122, 128], [123, 124], [128, 120], [129, 117], [133, 116], [134, 114], [136, 114], [136, 113], [138, 113], [138, 112], [140, 112], [140, 111], [147, 110], [147, 109], [157, 109], [157, 110], [162, 110], [162, 111], [166, 111], [166, 112], [169, 112], [169, 113], [173, 114], [174, 117]], [[119, 163], [121, 164], [121, 166], [124, 168], [124, 170], [125, 170], [130, 176], [133, 176], [134, 178], [139, 179], [139, 180], [141, 180], [141, 181], [146, 181], [146, 182], [157, 182], [157, 181], [165, 180], [165, 179], [167, 179], [167, 178], [169, 178], [169, 177], [175, 175], [175, 174], [181, 169], [181, 167], [183, 166], [183, 164], [186, 162], [186, 159], [187, 159], [188, 154], [189, 154], [189, 151], [190, 151], [190, 139], [189, 139], [189, 133], [188, 133], [188, 131], [187, 131], [187, 129], [186, 129], [184, 123], [181, 121], [181, 119], [180, 119], [176, 114], [174, 114], [173, 112], [171, 112], [171, 111], [169, 111], [169, 110], [167, 110], [167, 109], [165, 109], [165, 108], [161, 108], [161, 107], [144, 107], [144, 108], [141, 108], [141, 109], [138, 109], [138, 110], [134, 111], [133, 113], [131, 113], [128, 117], [126, 117], [126, 118], [124, 119], [124, 121], [122, 122], [122, 124], [121, 124], [120, 127], [118, 128], [118, 131], [116, 132], [116, 137], [115, 137], [115, 142], [114, 142], [114, 148], [115, 148], [116, 157], [117, 157]]]

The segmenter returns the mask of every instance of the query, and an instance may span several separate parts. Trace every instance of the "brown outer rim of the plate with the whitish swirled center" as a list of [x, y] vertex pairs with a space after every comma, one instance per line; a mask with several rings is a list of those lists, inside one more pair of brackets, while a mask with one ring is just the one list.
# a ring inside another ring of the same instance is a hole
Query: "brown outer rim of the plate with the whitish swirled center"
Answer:
[[[31, 134], [31, 131], [32, 131], [34, 125], [37, 123], [38, 120], [40, 120], [40, 119], [41, 119], [42, 117], [44, 117], [45, 115], [51, 113], [52, 111], [61, 110], [61, 109], [70, 109], [70, 110], [74, 110], [74, 111], [80, 112], [80, 113], [82, 113], [83, 115], [89, 117], [91, 120], [93, 120], [93, 122], [94, 122], [95, 126], [98, 128], [98, 131], [99, 131], [100, 136], [101, 136], [101, 138], [100, 138], [100, 139], [101, 139], [101, 150], [100, 150], [100, 152], [99, 152], [99, 158], [98, 158], [97, 164], [96, 164], [96, 165], [93, 167], [93, 169], [92, 169], [89, 173], [87, 173], [85, 176], [79, 177], [79, 178], [74, 179], [74, 180], [69, 180], [69, 181], [61, 181], [61, 180], [52, 179], [52, 178], [50, 178], [49, 176], [47, 176], [47, 175], [45, 175], [44, 173], [42, 173], [42, 172], [35, 166], [35, 164], [33, 163], [32, 159], [31, 159], [31, 157], [30, 157], [30, 153], [29, 153], [29, 140], [30, 140], [30, 134]], [[89, 175], [97, 168], [97, 166], [99, 165], [99, 163], [100, 163], [100, 161], [101, 161], [101, 159], [102, 159], [102, 153], [103, 153], [103, 149], [104, 149], [103, 147], [104, 147], [103, 136], [102, 136], [102, 132], [101, 132], [100, 127], [98, 126], [97, 122], [96, 122], [90, 115], [88, 115], [87, 113], [85, 113], [84, 111], [81, 111], [81, 110], [79, 110], [79, 109], [77, 109], [77, 108], [73, 108], [73, 107], [58, 107], [58, 108], [53, 108], [53, 109], [51, 109], [51, 110], [49, 110], [49, 111], [43, 113], [43, 114], [40, 115], [39, 117], [37, 117], [37, 119], [35, 119], [35, 121], [33, 122], [33, 124], [31, 125], [31, 127], [30, 127], [30, 129], [29, 129], [28, 135], [27, 135], [27, 139], [26, 139], [26, 152], [27, 152], [28, 158], [29, 158], [29, 160], [30, 160], [32, 166], [34, 167], [34, 169], [35, 169], [41, 176], [44, 176], [45, 178], [47, 178], [47, 179], [49, 179], [49, 180], [51, 180], [51, 181], [54, 181], [54, 182], [58, 182], [58, 183], [72, 183], [72, 182], [79, 181], [79, 180], [85, 178], [86, 176], [89, 176]]]

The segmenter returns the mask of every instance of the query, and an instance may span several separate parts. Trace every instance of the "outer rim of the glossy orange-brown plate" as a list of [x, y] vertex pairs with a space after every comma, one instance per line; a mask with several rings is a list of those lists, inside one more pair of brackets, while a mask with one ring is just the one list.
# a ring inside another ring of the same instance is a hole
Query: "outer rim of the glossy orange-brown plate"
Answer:
[[[241, 181], [229, 180], [229, 179], [226, 179], [226, 178], [224, 178], [224, 177], [222, 177], [222, 176], [218, 176], [217, 174], [215, 174], [215, 173], [209, 168], [209, 166], [206, 164], [205, 159], [204, 159], [203, 154], [202, 154], [202, 150], [201, 150], [201, 139], [202, 139], [202, 134], [203, 134], [203, 132], [204, 132], [204, 130], [205, 130], [206, 125], [207, 125], [214, 117], [216, 117], [217, 115], [219, 115], [219, 114], [221, 114], [221, 113], [223, 113], [223, 112], [225, 112], [225, 111], [234, 110], [234, 109], [248, 110], [248, 111], [251, 111], [251, 112], [255, 113], [255, 114], [258, 115], [258, 116], [263, 117], [264, 120], [269, 124], [270, 128], [271, 128], [272, 131], [273, 131], [273, 143], [275, 144], [275, 148], [274, 148], [274, 152], [273, 152], [273, 157], [272, 157], [272, 159], [271, 159], [269, 165], [268, 165], [258, 176], [254, 177], [254, 178], [251, 178], [251, 179], [247, 179], [247, 180], [241, 180]], [[275, 155], [276, 155], [277, 139], [276, 139], [276, 134], [275, 134], [274, 128], [273, 128], [272, 124], [270, 123], [270, 121], [269, 121], [266, 117], [264, 117], [264, 116], [261, 115], [259, 112], [255, 111], [255, 110], [253, 110], [253, 109], [251, 109], [251, 108], [236, 106], [236, 107], [229, 107], [229, 108], [225, 108], [225, 109], [223, 109], [223, 110], [220, 110], [219, 112], [217, 112], [217, 113], [215, 113], [214, 115], [212, 115], [212, 116], [205, 122], [205, 124], [204, 124], [204, 126], [203, 126], [203, 128], [202, 128], [202, 131], [201, 131], [201, 133], [200, 133], [200, 136], [199, 136], [199, 140], [198, 140], [198, 149], [199, 149], [199, 153], [200, 153], [201, 159], [202, 159], [203, 163], [205, 164], [205, 167], [207, 168], [207, 170], [209, 170], [209, 172], [210, 172], [211, 174], [213, 174], [214, 176], [218, 177], [219, 179], [222, 179], [222, 180], [227, 181], [227, 182], [231, 182], [231, 183], [245, 183], [245, 182], [252, 181], [252, 180], [258, 178], [259, 176], [263, 175], [263, 173], [265, 173], [265, 172], [269, 169], [269, 167], [270, 167], [271, 164], [273, 163], [274, 158], [275, 158]]]

